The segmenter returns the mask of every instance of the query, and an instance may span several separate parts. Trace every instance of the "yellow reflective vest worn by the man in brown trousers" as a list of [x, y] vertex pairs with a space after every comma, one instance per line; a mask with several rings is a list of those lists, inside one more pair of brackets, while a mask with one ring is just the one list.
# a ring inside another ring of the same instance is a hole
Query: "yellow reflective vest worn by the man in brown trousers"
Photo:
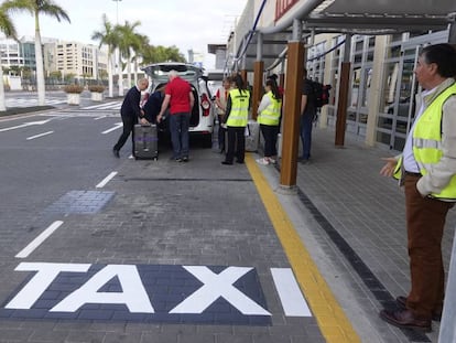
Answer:
[[[427, 171], [442, 159], [442, 107], [454, 95], [456, 95], [456, 84], [446, 88], [431, 103], [413, 130], [413, 156], [422, 175], [427, 174]], [[456, 200], [456, 175], [450, 179], [441, 193], [431, 195], [438, 199]]]

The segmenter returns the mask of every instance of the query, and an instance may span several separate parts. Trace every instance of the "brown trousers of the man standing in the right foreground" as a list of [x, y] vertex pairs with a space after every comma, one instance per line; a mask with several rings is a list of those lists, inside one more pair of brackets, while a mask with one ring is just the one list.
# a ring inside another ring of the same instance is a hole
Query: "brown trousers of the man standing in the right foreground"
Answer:
[[406, 308], [414, 315], [431, 319], [442, 312], [445, 271], [442, 237], [445, 218], [453, 203], [423, 197], [416, 190], [420, 176], [405, 175], [405, 212], [412, 288]]

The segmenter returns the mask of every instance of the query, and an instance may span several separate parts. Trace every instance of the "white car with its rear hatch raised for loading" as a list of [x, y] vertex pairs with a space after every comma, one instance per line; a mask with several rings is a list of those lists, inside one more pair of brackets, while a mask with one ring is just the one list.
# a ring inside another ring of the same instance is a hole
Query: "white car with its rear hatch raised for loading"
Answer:
[[[204, 144], [210, 148], [213, 144], [214, 106], [204, 69], [186, 63], [155, 63], [142, 67], [142, 71], [151, 78], [150, 92], [154, 92], [167, 84], [169, 72], [176, 71], [178, 76], [187, 81], [192, 86], [195, 104], [192, 108], [189, 133], [202, 136]], [[165, 115], [165, 118], [167, 115]], [[159, 126], [161, 132], [169, 132], [167, 120], [162, 120]]]

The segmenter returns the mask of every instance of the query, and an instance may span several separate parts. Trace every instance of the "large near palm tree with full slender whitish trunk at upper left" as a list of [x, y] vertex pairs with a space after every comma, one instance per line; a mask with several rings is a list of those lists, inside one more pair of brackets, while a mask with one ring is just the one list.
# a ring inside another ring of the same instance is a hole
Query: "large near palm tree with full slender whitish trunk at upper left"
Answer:
[[40, 14], [54, 17], [58, 21], [65, 19], [69, 21], [68, 14], [63, 8], [52, 0], [7, 0], [2, 4], [8, 11], [26, 11], [35, 19], [35, 58], [36, 58], [36, 86], [39, 93], [39, 105], [44, 105], [45, 86], [44, 86], [44, 66], [43, 51], [40, 33]]

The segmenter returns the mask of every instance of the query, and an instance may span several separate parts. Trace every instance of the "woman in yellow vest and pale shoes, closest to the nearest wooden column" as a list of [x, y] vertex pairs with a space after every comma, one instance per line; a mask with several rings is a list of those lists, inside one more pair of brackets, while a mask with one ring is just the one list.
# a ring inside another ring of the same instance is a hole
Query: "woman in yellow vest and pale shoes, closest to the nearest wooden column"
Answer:
[[282, 95], [280, 94], [278, 84], [272, 78], [267, 79], [264, 89], [265, 94], [258, 107], [257, 118], [264, 138], [264, 157], [257, 160], [257, 162], [267, 165], [275, 163], [273, 157], [278, 154], [275, 144], [280, 129]]

